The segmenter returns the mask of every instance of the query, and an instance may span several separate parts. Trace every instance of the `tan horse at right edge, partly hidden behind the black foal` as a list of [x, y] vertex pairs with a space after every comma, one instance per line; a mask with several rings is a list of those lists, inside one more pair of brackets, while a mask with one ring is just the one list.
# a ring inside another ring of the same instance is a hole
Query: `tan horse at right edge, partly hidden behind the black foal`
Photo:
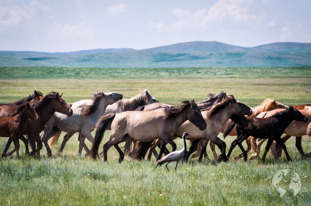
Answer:
[[[263, 112], [262, 114], [260, 114], [259, 117], [261, 117], [261, 118], [271, 117], [273, 115], [276, 115], [279, 112], [282, 112], [283, 110], [284, 109], [276, 109], [276, 110], [273, 110], [270, 112]], [[299, 112], [301, 112], [306, 117], [308, 117], [309, 121], [307, 123], [301, 122], [301, 121], [293, 121], [285, 129], [285, 131], [284, 131], [285, 135], [300, 136], [300, 137], [303, 135], [307, 135], [308, 124], [311, 122], [311, 107], [306, 107], [305, 109], [299, 110]], [[256, 142], [256, 138], [252, 137], [251, 141]], [[257, 146], [256, 145], [253, 146], [253, 144], [252, 144], [252, 149], [256, 150], [256, 153], [252, 154], [250, 156], [250, 158], [249, 158], [250, 160], [259, 158], [260, 148], [261, 148], [261, 145], [263, 144], [264, 141], [265, 141], [265, 139], [258, 140]], [[282, 140], [282, 142], [285, 143], [284, 140]], [[297, 139], [296, 139], [296, 148], [298, 149], [302, 158], [308, 158], [309, 154], [304, 154], [304, 152], [302, 150], [301, 139], [300, 139], [300, 141], [299, 140], [297, 141]], [[278, 159], [280, 156], [276, 153], [275, 149], [276, 149], [275, 144], [272, 144], [272, 146], [271, 146], [272, 154], [273, 154], [274, 158]]]

